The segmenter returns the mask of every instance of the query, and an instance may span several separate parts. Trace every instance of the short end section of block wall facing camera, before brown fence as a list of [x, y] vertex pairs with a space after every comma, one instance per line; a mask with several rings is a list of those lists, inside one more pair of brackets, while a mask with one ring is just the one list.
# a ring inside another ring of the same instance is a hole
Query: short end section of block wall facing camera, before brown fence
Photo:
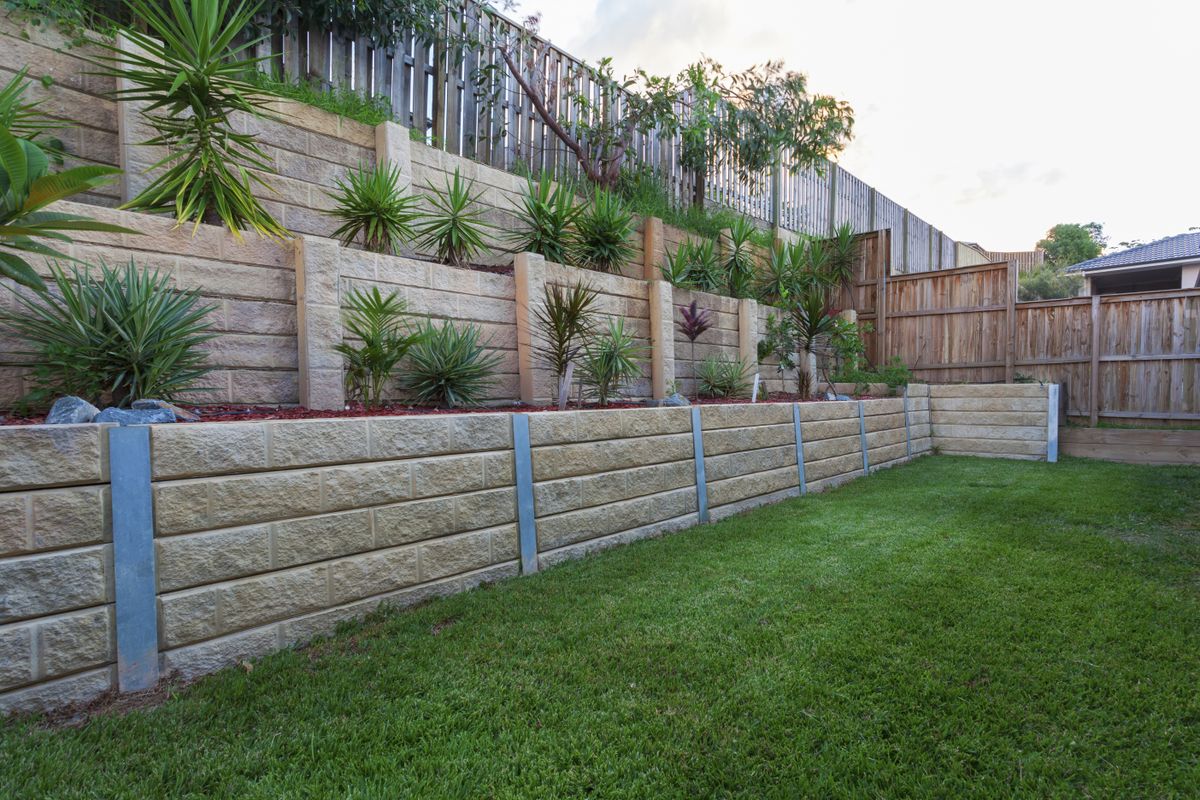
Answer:
[[952, 455], [1045, 459], [1052, 387], [1054, 384], [930, 386], [934, 446]]

